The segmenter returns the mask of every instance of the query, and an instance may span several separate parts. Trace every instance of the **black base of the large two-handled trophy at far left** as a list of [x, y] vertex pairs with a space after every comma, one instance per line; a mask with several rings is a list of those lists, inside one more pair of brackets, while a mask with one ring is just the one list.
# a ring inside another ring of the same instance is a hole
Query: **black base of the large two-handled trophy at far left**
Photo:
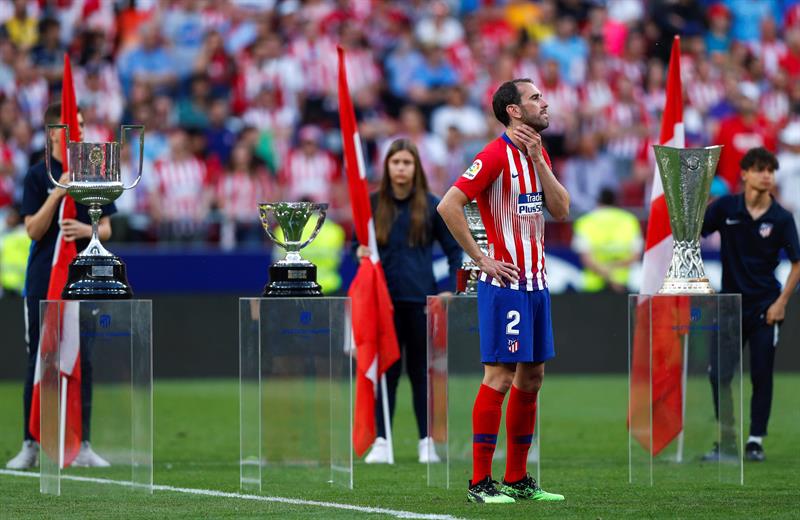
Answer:
[[129, 300], [133, 291], [116, 256], [76, 256], [69, 264], [64, 300]]

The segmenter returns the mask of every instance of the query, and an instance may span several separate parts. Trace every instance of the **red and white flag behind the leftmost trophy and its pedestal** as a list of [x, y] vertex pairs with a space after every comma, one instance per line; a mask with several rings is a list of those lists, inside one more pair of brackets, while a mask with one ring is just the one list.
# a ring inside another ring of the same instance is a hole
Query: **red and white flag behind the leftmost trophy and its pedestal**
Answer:
[[[64, 77], [61, 88], [61, 123], [69, 126], [69, 137], [71, 141], [81, 140], [81, 127], [78, 123], [78, 103], [75, 100], [75, 88], [72, 84], [72, 67], [70, 66], [69, 55], [64, 54]], [[61, 146], [62, 167], [66, 172], [68, 168], [67, 163], [67, 142], [66, 139], [62, 140]], [[57, 179], [56, 179], [57, 180]], [[69, 195], [65, 195], [61, 199], [61, 204], [58, 208], [58, 221], [59, 223], [64, 219], [74, 219], [77, 217], [77, 209], [75, 207], [75, 200]], [[67, 283], [67, 272], [70, 262], [75, 258], [77, 249], [75, 242], [68, 242], [65, 240], [61, 229], [58, 231], [56, 238], [56, 248], [53, 253], [53, 264], [50, 271], [50, 283], [47, 288], [48, 300], [60, 300], [61, 291]], [[60, 314], [60, 315], [58, 315]], [[74, 314], [74, 315], [73, 315]], [[66, 413], [66, 422], [64, 435], [64, 456], [63, 466], [68, 466], [72, 460], [78, 455], [81, 443], [81, 364], [80, 354], [78, 348], [78, 337], [73, 334], [76, 332], [78, 324], [77, 307], [76, 312], [63, 312], [51, 313], [48, 312], [42, 316], [44, 320], [42, 328], [46, 327], [59, 327], [61, 334], [58, 335], [61, 348], [61, 380], [66, 380], [66, 386], [61, 387], [61, 391], [67, 392], [67, 406], [66, 410], [62, 410], [62, 414]], [[56, 323], [61, 321], [61, 323]], [[32, 323], [32, 327], [38, 324]], [[39, 416], [39, 403], [40, 403], [40, 381], [41, 381], [41, 368], [40, 360], [43, 354], [43, 349], [54, 349], [56, 344], [54, 342], [43, 342], [42, 338], [48, 337], [48, 334], [43, 330], [39, 340], [39, 357], [36, 359], [36, 372], [34, 375], [33, 386], [33, 400], [31, 401], [31, 419], [29, 429], [33, 437], [40, 440], [40, 416]], [[54, 456], [54, 454], [51, 454]]]

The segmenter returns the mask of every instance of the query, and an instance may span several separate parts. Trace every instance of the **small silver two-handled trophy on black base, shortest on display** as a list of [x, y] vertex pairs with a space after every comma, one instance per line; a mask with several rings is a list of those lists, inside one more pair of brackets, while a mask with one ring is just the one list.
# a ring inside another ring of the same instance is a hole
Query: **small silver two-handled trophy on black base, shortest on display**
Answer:
[[[325, 222], [327, 204], [313, 202], [264, 202], [258, 205], [261, 225], [273, 242], [286, 250], [286, 258], [269, 267], [269, 284], [264, 287], [262, 296], [322, 296], [322, 288], [317, 283], [317, 266], [304, 260], [300, 250], [317, 236]], [[303, 229], [308, 219], [319, 213], [314, 231], [305, 241]], [[272, 218], [283, 231], [283, 240], [272, 232]]]

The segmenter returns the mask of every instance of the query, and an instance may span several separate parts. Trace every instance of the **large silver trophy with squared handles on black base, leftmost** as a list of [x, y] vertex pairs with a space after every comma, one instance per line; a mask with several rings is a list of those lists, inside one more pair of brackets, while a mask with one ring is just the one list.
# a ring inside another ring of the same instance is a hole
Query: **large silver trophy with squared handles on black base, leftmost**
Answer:
[[[69, 184], [61, 184], [53, 178], [50, 168], [52, 143], [50, 132], [64, 129], [67, 140], [67, 162], [70, 174]], [[130, 186], [123, 186], [120, 175], [120, 148], [125, 142], [125, 132], [139, 131], [139, 175]], [[116, 255], [110, 253], [97, 236], [97, 226], [102, 215], [100, 206], [111, 204], [122, 192], [132, 189], [142, 178], [142, 159], [144, 151], [144, 126], [122, 125], [120, 142], [83, 143], [69, 140], [67, 125], [47, 125], [45, 141], [45, 162], [47, 175], [76, 202], [89, 206], [89, 218], [92, 219], [92, 238], [89, 245], [78, 253], [69, 265], [67, 284], [61, 293], [64, 300], [116, 300], [129, 299], [133, 296], [125, 264]]]

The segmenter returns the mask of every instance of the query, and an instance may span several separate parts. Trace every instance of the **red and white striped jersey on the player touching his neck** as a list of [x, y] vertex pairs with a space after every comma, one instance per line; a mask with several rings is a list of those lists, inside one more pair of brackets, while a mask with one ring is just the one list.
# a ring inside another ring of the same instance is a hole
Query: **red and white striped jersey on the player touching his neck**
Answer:
[[[550, 166], [550, 157], [543, 153]], [[544, 192], [527, 154], [503, 134], [475, 156], [454, 186], [477, 200], [493, 257], [519, 267], [519, 282], [508, 287], [520, 291], [547, 287]], [[481, 280], [489, 281], [485, 273]], [[491, 283], [500, 285], [495, 279]]]

